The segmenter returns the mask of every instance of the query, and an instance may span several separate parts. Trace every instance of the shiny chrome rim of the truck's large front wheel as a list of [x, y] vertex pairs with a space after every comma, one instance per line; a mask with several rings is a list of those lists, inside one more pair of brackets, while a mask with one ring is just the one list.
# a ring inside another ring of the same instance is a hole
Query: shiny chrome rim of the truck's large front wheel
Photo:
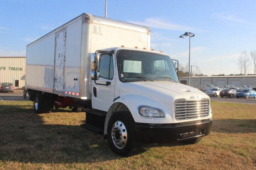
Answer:
[[116, 121], [112, 126], [112, 140], [114, 145], [122, 149], [126, 146], [127, 143], [127, 131], [126, 126], [122, 121]]

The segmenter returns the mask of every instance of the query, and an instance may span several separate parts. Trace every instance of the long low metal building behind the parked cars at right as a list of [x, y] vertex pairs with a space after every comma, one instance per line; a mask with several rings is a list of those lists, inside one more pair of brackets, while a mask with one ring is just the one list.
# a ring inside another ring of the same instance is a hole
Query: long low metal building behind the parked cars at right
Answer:
[[[179, 81], [188, 85], [188, 77], [180, 77]], [[234, 85], [236, 87], [241, 85], [256, 86], [256, 75], [192, 77], [192, 86], [197, 89], [201, 90], [207, 84], [213, 84], [216, 87], [223, 87], [223, 85]]]

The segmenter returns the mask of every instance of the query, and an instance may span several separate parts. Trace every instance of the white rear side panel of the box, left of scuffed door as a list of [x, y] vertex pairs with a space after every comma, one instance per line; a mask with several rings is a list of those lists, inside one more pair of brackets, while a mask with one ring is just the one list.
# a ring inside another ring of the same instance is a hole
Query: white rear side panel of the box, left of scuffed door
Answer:
[[26, 85], [53, 89], [55, 34], [27, 46]]

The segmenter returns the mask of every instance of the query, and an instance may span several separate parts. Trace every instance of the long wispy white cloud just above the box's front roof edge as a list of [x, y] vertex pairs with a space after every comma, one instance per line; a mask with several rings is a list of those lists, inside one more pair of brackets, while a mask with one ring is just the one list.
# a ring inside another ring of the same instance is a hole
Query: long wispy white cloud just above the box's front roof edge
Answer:
[[164, 19], [157, 18], [157, 17], [146, 18], [143, 22], [140, 22], [140, 21], [128, 21], [128, 22], [143, 25], [143, 26], [149, 26], [149, 27], [161, 28], [161, 29], [168, 29], [168, 30], [206, 32], [206, 30], [201, 30], [201, 29], [188, 27], [188, 26], [182, 26], [180, 24], [165, 21]]

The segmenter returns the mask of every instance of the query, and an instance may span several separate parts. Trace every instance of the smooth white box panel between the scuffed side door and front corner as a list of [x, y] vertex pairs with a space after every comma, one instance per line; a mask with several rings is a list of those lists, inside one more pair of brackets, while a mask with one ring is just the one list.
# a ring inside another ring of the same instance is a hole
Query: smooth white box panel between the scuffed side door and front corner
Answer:
[[82, 20], [66, 28], [65, 89], [79, 93]]

